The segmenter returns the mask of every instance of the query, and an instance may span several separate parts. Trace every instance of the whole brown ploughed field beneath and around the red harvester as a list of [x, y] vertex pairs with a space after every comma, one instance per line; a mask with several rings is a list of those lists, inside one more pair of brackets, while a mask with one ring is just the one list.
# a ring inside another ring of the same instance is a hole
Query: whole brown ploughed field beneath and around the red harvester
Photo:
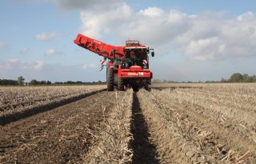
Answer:
[[0, 163], [256, 163], [256, 84], [0, 88]]

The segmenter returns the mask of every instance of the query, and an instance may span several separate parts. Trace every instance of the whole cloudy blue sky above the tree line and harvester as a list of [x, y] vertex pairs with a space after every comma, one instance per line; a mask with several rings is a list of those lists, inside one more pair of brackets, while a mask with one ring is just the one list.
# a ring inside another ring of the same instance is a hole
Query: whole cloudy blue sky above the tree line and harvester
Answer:
[[219, 80], [256, 74], [256, 1], [3, 0], [0, 78], [105, 81], [102, 57], [74, 45], [78, 33], [155, 50], [154, 78]]

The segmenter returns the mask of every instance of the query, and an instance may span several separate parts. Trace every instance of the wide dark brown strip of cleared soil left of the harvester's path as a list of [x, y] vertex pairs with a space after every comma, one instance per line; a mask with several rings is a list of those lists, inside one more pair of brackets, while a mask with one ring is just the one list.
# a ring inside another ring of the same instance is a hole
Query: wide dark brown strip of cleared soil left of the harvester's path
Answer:
[[105, 127], [103, 105], [106, 109], [115, 105], [114, 92], [94, 94], [0, 127], [0, 163], [81, 163], [94, 135]]

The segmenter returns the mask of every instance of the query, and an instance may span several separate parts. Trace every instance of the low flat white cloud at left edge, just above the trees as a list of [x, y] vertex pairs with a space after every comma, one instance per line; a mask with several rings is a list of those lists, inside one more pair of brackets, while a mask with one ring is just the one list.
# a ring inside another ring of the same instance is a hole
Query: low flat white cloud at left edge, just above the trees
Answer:
[[10, 58], [7, 61], [0, 61], [0, 71], [6, 70], [42, 70], [44, 68], [44, 62], [22, 62], [18, 58]]

